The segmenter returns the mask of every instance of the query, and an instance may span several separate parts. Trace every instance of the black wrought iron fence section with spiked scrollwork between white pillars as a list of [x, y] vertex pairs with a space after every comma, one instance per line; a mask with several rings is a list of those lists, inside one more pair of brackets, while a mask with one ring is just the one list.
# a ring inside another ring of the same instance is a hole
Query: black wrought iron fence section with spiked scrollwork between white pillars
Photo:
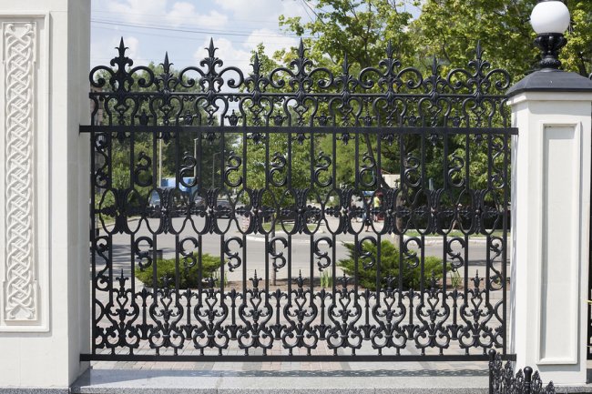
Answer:
[[508, 357], [508, 74], [207, 51], [90, 73], [82, 359]]

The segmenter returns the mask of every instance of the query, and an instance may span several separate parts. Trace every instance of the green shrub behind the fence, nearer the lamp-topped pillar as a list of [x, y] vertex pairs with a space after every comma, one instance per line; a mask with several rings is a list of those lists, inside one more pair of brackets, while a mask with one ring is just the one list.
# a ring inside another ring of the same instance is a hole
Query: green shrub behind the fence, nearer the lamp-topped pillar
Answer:
[[[348, 249], [349, 258], [339, 260], [337, 263], [345, 272], [353, 278], [355, 274], [355, 254], [356, 250], [352, 243], [345, 243], [345, 248]], [[378, 265], [378, 258], [376, 258], [377, 246], [369, 242], [363, 244], [363, 252], [369, 253], [368, 257], [358, 256], [358, 284], [363, 288], [376, 289], [376, 268]], [[419, 257], [418, 257], [419, 258]], [[368, 267], [371, 261], [374, 261], [371, 267]], [[403, 289], [413, 288], [415, 290], [420, 288], [421, 281], [421, 264], [413, 268], [415, 262], [412, 259], [403, 259]], [[364, 266], [366, 266], [364, 268]], [[432, 274], [436, 279], [441, 279], [442, 260], [440, 258], [425, 257], [424, 258], [424, 288], [431, 286]], [[381, 286], [387, 287], [384, 278], [395, 278], [391, 288], [398, 288], [399, 286], [399, 249], [393, 246], [393, 243], [384, 240], [381, 243]]]

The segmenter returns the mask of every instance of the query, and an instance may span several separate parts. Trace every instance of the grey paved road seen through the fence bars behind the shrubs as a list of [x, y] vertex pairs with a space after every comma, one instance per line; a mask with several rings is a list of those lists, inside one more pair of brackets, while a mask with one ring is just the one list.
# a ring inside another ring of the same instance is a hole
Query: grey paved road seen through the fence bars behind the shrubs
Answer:
[[[199, 227], [202, 225], [202, 222], [196, 220], [196, 226]], [[157, 219], [149, 219], [149, 223], [142, 222], [140, 224], [140, 228], [138, 230], [138, 234], [136, 235], [136, 239], [138, 237], [151, 237], [148, 227], [147, 226], [156, 226]], [[174, 219], [173, 226], [177, 228], [181, 228], [183, 225], [183, 219]], [[230, 237], [240, 237], [242, 239], [242, 234], [240, 233], [236, 224], [232, 222], [229, 224], [229, 220], [220, 220], [219, 223], [220, 227], [229, 227], [225, 239], [229, 239]], [[336, 222], [329, 222], [329, 226], [336, 226]], [[362, 224], [356, 224], [356, 226], [362, 226]], [[377, 229], [379, 229], [382, 224], [376, 224]], [[104, 233], [102, 233], [104, 234]], [[371, 230], [370, 232], [364, 232], [359, 236], [359, 239], [362, 237], [369, 237], [374, 236], [375, 234]], [[189, 222], [184, 227], [183, 231], [179, 235], [179, 239], [183, 239], [184, 237], [196, 237], [196, 233], [193, 228], [189, 225]], [[305, 277], [309, 276], [311, 269], [315, 272], [315, 275], [318, 275], [318, 268], [316, 264], [319, 261], [317, 255], [314, 255], [313, 248], [311, 248], [312, 242], [317, 242], [320, 238], [326, 237], [332, 240], [332, 235], [327, 231], [325, 226], [320, 227], [317, 234], [313, 237], [310, 235], [305, 234], [295, 234], [291, 237], [288, 237], [284, 232], [278, 231], [276, 232], [276, 237], [281, 237], [283, 239], [288, 240], [290, 238], [291, 242], [291, 253], [288, 252], [287, 248], [284, 248], [280, 241], [275, 243], [276, 251], [278, 253], [283, 253], [282, 257], [286, 258], [286, 267], [281, 268], [280, 271], [277, 273], [277, 278], [288, 278], [289, 276], [289, 269], [288, 264], [291, 265], [291, 276], [298, 275], [299, 271], [302, 271], [302, 275]], [[391, 237], [383, 237], [383, 239], [393, 239]], [[267, 240], [270, 240], [271, 237], [268, 236]], [[246, 261], [246, 268], [247, 268], [247, 278], [250, 278], [254, 271], [257, 270], [258, 275], [264, 276], [266, 264], [270, 264], [270, 258], [266, 260], [266, 253], [265, 253], [265, 246], [267, 244], [266, 237], [264, 235], [249, 235], [245, 238], [246, 244], [243, 244], [244, 251], [246, 252], [246, 259], [243, 258], [243, 250], [240, 248], [240, 245], [236, 241], [231, 241], [228, 245], [230, 247], [230, 252], [239, 252], [239, 257], [241, 258], [241, 264], [244, 264]], [[329, 248], [329, 245], [325, 241], [320, 241], [319, 247], [321, 253], [327, 252], [329, 255], [328, 257], [331, 258], [331, 261], [336, 261], [342, 258], [347, 258], [347, 249], [343, 246], [345, 242], [353, 242], [354, 237], [352, 235], [341, 235], [339, 237], [335, 237], [334, 239], [334, 248]], [[129, 273], [130, 270], [130, 256], [132, 253], [132, 248], [130, 247], [131, 237], [128, 235], [114, 235], [113, 236], [113, 260], [114, 260], [114, 267], [124, 268], [124, 272], [126, 274]], [[333, 242], [333, 240], [332, 240]], [[176, 237], [173, 235], [160, 235], [158, 236], [158, 249], [163, 250], [164, 258], [174, 258], [175, 257], [175, 243]], [[223, 245], [220, 240], [220, 236], [216, 234], [208, 234], [201, 237], [201, 245], [202, 245], [202, 252], [209, 253], [213, 256], [220, 256], [223, 250]], [[190, 242], [186, 243], [185, 245], [188, 248], [191, 248], [192, 245]], [[142, 250], [148, 249], [147, 243], [141, 243], [140, 248]], [[417, 250], [416, 245], [410, 243], [410, 248]], [[453, 243], [452, 245], [453, 252], [461, 252], [461, 256], [464, 258], [464, 249], [458, 243]], [[334, 250], [333, 250], [334, 249]], [[435, 256], [439, 258], [443, 258], [444, 256], [444, 244], [442, 242], [442, 238], [435, 238], [430, 237], [426, 238], [426, 245], [425, 245], [425, 256]], [[334, 255], [332, 255], [334, 253]], [[508, 260], [509, 260], [509, 253], [508, 253]], [[267, 262], [266, 262], [267, 261]], [[280, 261], [280, 260], [278, 260]], [[312, 261], [312, 267], [311, 267]], [[485, 238], [472, 238], [469, 242], [468, 248], [468, 267], [469, 267], [469, 275], [474, 276], [475, 271], [479, 270], [480, 275], [485, 274], [485, 261], [486, 261], [486, 245], [485, 245]], [[342, 274], [342, 271], [337, 268], [338, 275]], [[229, 273], [230, 280], [240, 280], [242, 275], [241, 269], [235, 270], [235, 272]]]

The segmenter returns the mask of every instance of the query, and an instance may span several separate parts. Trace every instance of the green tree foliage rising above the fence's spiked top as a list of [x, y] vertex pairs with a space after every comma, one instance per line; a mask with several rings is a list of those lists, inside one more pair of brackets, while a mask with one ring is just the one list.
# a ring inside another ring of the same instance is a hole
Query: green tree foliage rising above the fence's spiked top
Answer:
[[[322, 66], [338, 67], [345, 55], [354, 67], [375, 66], [392, 41], [403, 66], [428, 66], [436, 56], [444, 66], [464, 66], [481, 41], [493, 66], [515, 81], [539, 60], [535, 32], [528, 23], [537, 0], [305, 0], [314, 19], [281, 15], [280, 25], [311, 36], [306, 45]], [[411, 6], [420, 6], [413, 19]], [[592, 72], [592, 2], [569, 0], [572, 25], [560, 59], [564, 69], [582, 76]], [[291, 51], [278, 58], [288, 59]]]

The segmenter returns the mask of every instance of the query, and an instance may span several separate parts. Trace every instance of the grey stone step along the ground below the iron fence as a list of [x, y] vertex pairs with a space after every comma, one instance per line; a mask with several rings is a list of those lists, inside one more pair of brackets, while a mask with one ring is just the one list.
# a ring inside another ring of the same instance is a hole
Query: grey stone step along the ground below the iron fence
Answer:
[[[486, 394], [485, 371], [90, 369], [74, 394]], [[461, 373], [459, 373], [461, 372]]]

